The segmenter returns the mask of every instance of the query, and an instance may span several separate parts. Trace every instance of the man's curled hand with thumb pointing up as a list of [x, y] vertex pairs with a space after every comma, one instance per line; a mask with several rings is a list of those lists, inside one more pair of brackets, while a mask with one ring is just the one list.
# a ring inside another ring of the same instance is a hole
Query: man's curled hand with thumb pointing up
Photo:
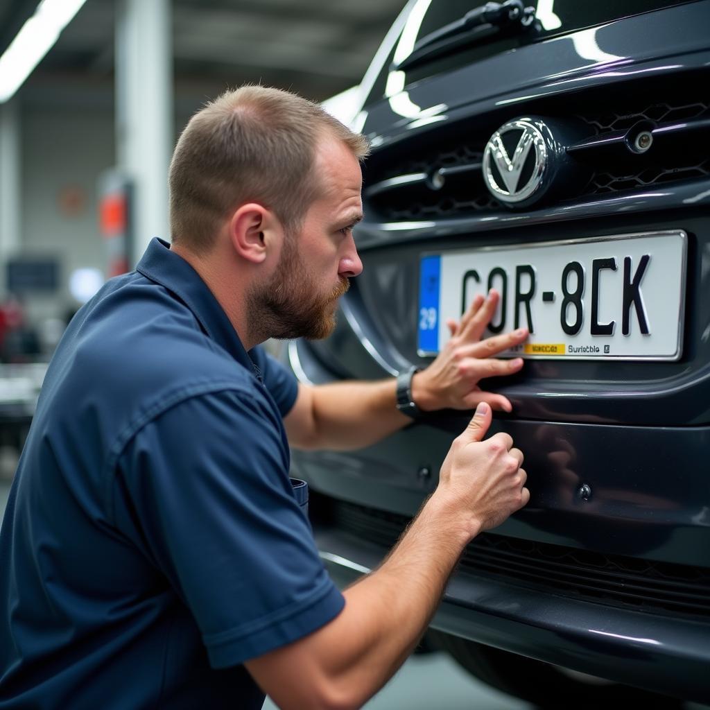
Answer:
[[523, 452], [500, 432], [484, 441], [491, 426], [491, 407], [479, 404], [466, 429], [454, 439], [432, 498], [444, 501], [462, 520], [469, 540], [481, 530], [503, 523], [530, 500], [528, 475], [520, 468]]

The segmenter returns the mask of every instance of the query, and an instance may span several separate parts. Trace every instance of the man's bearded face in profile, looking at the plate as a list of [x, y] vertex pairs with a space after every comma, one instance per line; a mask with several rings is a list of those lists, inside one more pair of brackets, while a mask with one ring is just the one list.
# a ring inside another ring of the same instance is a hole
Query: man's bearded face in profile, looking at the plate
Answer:
[[362, 217], [361, 170], [346, 146], [324, 139], [317, 150], [319, 197], [299, 234], [285, 235], [278, 266], [249, 295], [253, 328], [278, 339], [327, 337], [349, 278], [362, 271], [352, 227]]

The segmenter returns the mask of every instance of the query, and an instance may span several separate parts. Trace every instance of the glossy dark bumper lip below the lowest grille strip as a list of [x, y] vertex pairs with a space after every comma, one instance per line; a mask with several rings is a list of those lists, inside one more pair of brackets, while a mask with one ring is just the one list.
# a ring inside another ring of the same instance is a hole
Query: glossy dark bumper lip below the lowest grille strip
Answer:
[[[383, 550], [315, 528], [327, 568], [345, 586]], [[354, 564], [353, 564], [354, 563]], [[607, 608], [454, 572], [432, 626], [479, 643], [687, 700], [710, 701], [707, 626]], [[554, 694], [554, 689], [550, 689]]]

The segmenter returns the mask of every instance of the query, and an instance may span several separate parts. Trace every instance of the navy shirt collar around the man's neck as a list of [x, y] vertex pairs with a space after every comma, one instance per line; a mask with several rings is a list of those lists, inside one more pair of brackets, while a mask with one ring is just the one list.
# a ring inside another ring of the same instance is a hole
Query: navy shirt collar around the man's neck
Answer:
[[151, 239], [136, 271], [174, 293], [195, 315], [200, 327], [214, 342], [250, 370], [253, 362], [239, 335], [200, 274], [182, 256], [170, 251], [163, 239]]

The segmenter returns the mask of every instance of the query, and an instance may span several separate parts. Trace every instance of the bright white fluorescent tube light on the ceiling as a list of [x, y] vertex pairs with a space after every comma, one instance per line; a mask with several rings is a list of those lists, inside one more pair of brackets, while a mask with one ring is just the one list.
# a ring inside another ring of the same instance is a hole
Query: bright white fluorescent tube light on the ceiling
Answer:
[[0, 103], [19, 89], [86, 0], [42, 0], [0, 57]]

